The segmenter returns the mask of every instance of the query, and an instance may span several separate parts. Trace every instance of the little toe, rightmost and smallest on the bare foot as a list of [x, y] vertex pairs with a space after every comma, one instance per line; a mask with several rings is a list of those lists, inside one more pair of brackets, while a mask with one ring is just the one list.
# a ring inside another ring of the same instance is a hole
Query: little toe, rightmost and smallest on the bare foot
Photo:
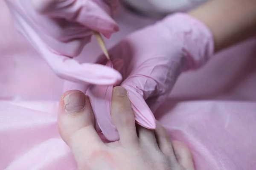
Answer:
[[173, 141], [172, 145], [178, 163], [186, 170], [194, 170], [193, 157], [189, 148], [179, 141]]

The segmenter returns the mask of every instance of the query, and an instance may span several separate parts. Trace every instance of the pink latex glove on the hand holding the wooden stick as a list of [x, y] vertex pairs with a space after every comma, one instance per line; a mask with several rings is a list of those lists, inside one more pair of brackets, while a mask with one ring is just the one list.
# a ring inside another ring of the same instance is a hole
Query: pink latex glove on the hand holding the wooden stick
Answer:
[[[18, 31], [55, 73], [79, 83], [113, 85], [122, 79], [115, 70], [71, 59], [90, 42], [92, 30], [106, 37], [119, 30], [112, 19], [118, 0], [5, 0]], [[93, 71], [92, 71], [93, 70]]]

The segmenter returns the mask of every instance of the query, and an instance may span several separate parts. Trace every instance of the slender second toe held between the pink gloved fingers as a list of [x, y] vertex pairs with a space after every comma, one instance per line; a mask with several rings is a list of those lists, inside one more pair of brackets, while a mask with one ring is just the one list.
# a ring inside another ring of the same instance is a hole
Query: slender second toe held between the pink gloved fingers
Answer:
[[111, 100], [111, 118], [120, 136], [122, 144], [135, 144], [139, 139], [136, 133], [134, 112], [128, 92], [120, 86], [113, 88]]

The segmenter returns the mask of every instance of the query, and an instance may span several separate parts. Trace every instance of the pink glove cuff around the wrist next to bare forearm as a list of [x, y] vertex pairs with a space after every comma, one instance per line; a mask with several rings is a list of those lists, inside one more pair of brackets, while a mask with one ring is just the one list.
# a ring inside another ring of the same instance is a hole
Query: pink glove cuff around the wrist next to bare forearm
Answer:
[[182, 52], [186, 59], [183, 71], [200, 68], [213, 55], [212, 32], [204, 23], [183, 13], [169, 15], [161, 23], [173, 35], [177, 35], [182, 43]]

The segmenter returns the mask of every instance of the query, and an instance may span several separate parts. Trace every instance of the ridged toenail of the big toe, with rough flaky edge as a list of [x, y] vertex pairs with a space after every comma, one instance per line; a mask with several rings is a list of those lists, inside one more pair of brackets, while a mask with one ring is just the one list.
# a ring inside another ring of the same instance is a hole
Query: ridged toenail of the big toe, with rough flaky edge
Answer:
[[67, 113], [82, 111], [85, 107], [85, 95], [80, 92], [72, 92], [64, 97], [64, 108]]

